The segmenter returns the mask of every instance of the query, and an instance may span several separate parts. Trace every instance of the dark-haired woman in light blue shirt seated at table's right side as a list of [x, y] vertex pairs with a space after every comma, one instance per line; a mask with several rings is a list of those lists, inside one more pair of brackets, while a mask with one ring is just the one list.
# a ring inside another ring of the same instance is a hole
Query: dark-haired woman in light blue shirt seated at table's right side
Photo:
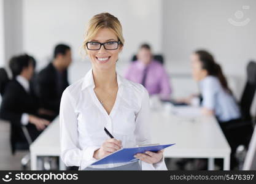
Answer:
[[[236, 166], [235, 151], [236, 139], [239, 135], [233, 134], [228, 127], [232, 123], [241, 121], [241, 112], [232, 94], [222, 69], [214, 57], [205, 50], [198, 50], [191, 56], [193, 79], [199, 83], [201, 92], [201, 108], [204, 115], [215, 115], [220, 128], [231, 147], [231, 169]], [[190, 104], [195, 95], [180, 102]]]

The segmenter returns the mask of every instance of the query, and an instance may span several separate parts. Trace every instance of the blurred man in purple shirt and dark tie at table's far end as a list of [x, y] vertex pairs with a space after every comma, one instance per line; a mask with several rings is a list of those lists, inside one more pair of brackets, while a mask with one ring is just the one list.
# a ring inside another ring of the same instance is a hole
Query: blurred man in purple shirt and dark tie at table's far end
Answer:
[[162, 64], [153, 60], [148, 44], [141, 45], [137, 58], [138, 60], [128, 67], [125, 78], [141, 83], [149, 91], [150, 96], [158, 94], [160, 99], [170, 99], [171, 87], [168, 74]]

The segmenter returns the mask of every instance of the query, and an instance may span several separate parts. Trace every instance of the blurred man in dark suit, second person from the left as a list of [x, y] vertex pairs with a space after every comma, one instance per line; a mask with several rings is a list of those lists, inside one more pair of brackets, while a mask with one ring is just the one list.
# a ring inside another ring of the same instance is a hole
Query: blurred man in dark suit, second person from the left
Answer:
[[55, 112], [52, 119], [59, 114], [62, 93], [69, 86], [68, 66], [71, 61], [71, 48], [64, 44], [56, 45], [53, 61], [37, 75], [37, 96], [42, 107]]

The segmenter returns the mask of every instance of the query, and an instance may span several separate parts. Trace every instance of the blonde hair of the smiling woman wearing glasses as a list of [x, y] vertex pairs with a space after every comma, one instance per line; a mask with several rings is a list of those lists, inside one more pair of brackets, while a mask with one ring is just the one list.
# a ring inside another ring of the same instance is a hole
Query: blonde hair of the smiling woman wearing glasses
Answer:
[[117, 36], [118, 41], [120, 41], [120, 45], [124, 45], [125, 39], [123, 39], [122, 25], [118, 18], [114, 15], [111, 15], [110, 13], [99, 13], [91, 18], [84, 34], [82, 47], [85, 50], [86, 54], [86, 43], [98, 33], [99, 29], [102, 28], [111, 29], [113, 33]]

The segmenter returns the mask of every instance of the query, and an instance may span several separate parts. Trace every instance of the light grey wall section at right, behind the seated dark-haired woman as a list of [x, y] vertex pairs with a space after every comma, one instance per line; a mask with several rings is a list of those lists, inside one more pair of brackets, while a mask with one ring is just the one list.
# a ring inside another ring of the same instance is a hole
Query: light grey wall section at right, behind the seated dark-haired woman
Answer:
[[[242, 10], [242, 6], [250, 6]], [[189, 55], [198, 48], [214, 53], [223, 71], [239, 86], [241, 94], [246, 76], [246, 64], [256, 59], [256, 1], [254, 0], [164, 0], [163, 51], [171, 73], [189, 73]], [[228, 18], [238, 20], [236, 10], [250, 18], [246, 26], [234, 26]]]

